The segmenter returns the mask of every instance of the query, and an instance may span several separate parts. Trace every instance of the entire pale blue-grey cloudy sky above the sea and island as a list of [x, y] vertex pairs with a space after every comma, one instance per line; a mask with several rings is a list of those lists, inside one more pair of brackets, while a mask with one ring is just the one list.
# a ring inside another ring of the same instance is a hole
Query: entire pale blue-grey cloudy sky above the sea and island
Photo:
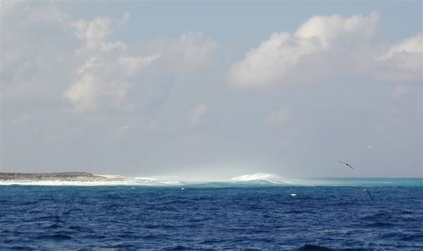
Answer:
[[0, 171], [423, 178], [422, 10], [2, 0]]

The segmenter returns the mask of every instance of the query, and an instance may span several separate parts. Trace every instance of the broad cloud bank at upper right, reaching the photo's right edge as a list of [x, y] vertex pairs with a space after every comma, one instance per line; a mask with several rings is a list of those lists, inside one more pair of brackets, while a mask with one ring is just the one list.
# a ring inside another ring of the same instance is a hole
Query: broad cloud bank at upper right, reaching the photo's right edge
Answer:
[[378, 20], [376, 12], [309, 18], [294, 33], [274, 33], [250, 50], [231, 66], [228, 82], [240, 88], [266, 88], [342, 73], [421, 78], [422, 35], [405, 39], [378, 59], [380, 46], [374, 42]]

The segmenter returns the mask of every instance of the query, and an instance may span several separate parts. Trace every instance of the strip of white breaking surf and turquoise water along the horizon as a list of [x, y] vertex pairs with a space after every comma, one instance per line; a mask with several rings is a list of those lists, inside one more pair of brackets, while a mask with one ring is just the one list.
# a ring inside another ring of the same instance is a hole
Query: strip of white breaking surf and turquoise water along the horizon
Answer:
[[97, 181], [76, 180], [0, 180], [0, 185], [52, 185], [52, 186], [239, 186], [239, 185], [285, 185], [285, 186], [423, 186], [422, 179], [384, 179], [384, 178], [282, 178], [274, 173], [251, 173], [235, 176], [226, 180], [184, 179], [175, 177], [125, 177], [111, 174], [96, 174], [106, 178]]

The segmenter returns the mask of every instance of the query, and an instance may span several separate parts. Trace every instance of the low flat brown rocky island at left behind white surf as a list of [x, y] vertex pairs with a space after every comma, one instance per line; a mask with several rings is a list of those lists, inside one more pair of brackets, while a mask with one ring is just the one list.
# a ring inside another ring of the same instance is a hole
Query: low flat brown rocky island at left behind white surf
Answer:
[[0, 180], [4, 181], [115, 181], [122, 180], [119, 176], [101, 176], [85, 172], [61, 172], [61, 173], [1, 173]]

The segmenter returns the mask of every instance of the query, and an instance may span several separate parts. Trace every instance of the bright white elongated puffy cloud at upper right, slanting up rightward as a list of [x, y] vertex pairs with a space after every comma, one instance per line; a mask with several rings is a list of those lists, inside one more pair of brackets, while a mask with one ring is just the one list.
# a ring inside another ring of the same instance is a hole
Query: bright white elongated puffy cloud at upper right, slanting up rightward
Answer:
[[240, 88], [261, 88], [293, 80], [306, 56], [328, 51], [337, 40], [362, 39], [376, 30], [378, 14], [314, 16], [294, 33], [274, 33], [245, 59], [233, 64], [228, 81]]

